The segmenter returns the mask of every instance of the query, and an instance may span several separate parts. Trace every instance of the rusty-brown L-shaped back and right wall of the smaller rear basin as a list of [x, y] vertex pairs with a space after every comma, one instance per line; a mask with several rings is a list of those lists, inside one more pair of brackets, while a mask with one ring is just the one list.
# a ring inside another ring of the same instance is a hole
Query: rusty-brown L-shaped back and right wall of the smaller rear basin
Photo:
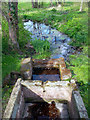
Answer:
[[66, 68], [64, 58], [58, 59], [32, 59], [33, 67], [36, 68], [58, 68], [60, 70], [61, 80], [67, 80], [72, 77], [69, 69]]

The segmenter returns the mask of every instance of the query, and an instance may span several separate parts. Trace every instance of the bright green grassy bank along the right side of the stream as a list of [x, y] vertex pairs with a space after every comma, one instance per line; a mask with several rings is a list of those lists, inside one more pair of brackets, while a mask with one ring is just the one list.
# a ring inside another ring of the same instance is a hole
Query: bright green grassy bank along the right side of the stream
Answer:
[[[21, 6], [23, 6], [21, 4]], [[72, 38], [70, 45], [83, 48], [79, 55], [71, 55], [68, 63], [69, 69], [73, 73], [73, 78], [80, 84], [79, 90], [85, 106], [88, 110], [88, 7], [83, 4], [83, 12], [79, 12], [80, 3], [66, 2], [64, 6], [53, 9], [40, 8], [33, 9], [26, 6], [25, 11], [20, 11], [19, 15], [23, 19], [44, 22], [50, 24], [62, 33]], [[49, 7], [49, 5], [47, 5]], [[20, 6], [19, 6], [20, 10]], [[89, 113], [89, 111], [88, 111]]]

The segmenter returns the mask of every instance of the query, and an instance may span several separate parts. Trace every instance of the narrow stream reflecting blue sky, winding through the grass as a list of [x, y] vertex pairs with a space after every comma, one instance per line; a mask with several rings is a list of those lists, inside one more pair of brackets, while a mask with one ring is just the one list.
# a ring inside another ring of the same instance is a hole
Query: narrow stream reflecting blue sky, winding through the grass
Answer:
[[68, 56], [75, 52], [74, 49], [69, 45], [69, 42], [71, 41], [70, 38], [56, 29], [53, 29], [44, 23], [34, 23], [30, 20], [25, 22], [24, 25], [25, 29], [32, 33], [32, 40], [46, 39], [50, 42], [50, 50], [52, 53], [50, 58], [63, 57], [65, 60], [67, 60]]

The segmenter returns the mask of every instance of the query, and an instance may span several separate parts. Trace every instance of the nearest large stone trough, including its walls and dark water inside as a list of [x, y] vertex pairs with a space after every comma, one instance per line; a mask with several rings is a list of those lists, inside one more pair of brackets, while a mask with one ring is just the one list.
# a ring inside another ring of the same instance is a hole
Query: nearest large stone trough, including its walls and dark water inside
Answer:
[[[45, 110], [47, 112], [45, 112]], [[36, 111], [33, 114], [33, 111]], [[54, 111], [54, 112], [53, 112]], [[17, 80], [3, 118], [88, 118], [76, 84], [69, 81]]]

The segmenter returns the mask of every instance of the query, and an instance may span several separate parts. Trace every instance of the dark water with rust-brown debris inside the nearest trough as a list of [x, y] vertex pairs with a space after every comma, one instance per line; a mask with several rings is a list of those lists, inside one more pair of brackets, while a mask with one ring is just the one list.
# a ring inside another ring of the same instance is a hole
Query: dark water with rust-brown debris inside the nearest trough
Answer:
[[69, 118], [67, 104], [38, 102], [26, 103], [25, 119], [31, 120], [61, 120], [61, 118]]

